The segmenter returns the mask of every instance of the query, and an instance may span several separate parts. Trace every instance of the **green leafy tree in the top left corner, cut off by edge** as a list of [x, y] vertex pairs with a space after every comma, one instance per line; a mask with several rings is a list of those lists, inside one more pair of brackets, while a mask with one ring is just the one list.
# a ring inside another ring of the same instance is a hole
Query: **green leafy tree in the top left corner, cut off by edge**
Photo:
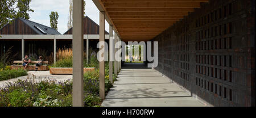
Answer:
[[1, 0], [0, 1], [0, 28], [15, 18], [16, 0]]

